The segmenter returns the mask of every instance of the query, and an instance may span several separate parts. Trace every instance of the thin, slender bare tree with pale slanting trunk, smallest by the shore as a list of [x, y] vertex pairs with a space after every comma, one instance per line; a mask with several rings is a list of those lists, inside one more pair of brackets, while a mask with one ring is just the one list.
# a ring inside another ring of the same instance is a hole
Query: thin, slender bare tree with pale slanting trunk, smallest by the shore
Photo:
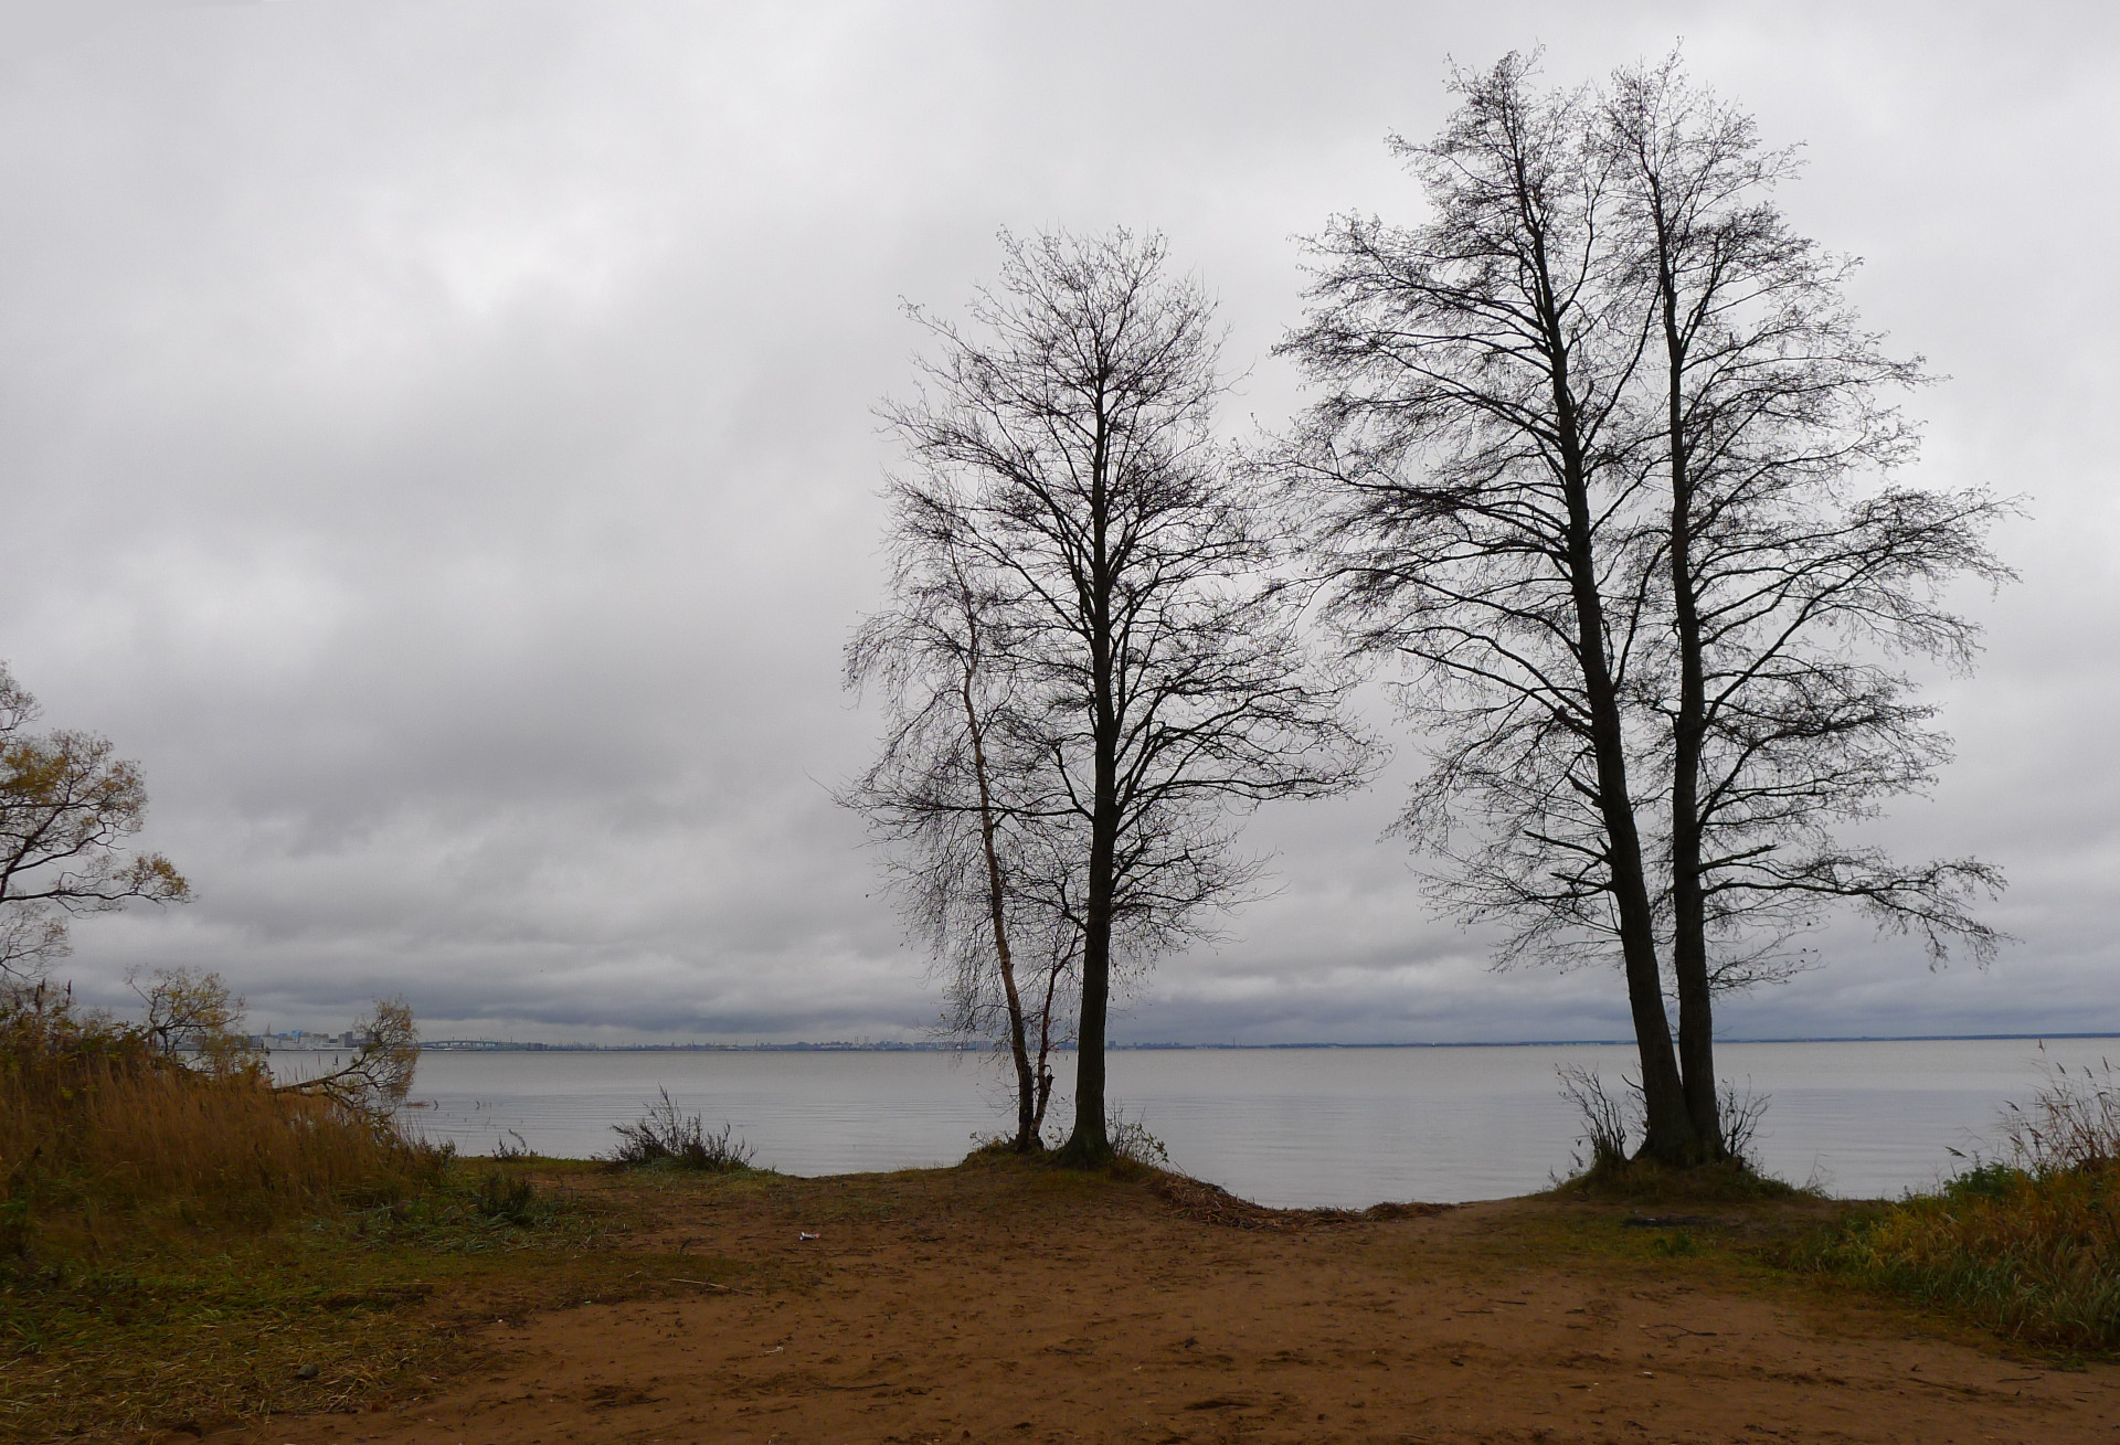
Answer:
[[[946, 1025], [1001, 1038], [1015, 1076], [1015, 1148], [1041, 1148], [1052, 1053], [1066, 1042], [1066, 994], [1081, 953], [1068, 907], [1062, 820], [1026, 811], [1049, 756], [1022, 733], [1007, 653], [1007, 612], [948, 542], [895, 538], [890, 610], [869, 617], [846, 650], [848, 686], [880, 686], [890, 727], [867, 773], [837, 801], [886, 843], [901, 911], [950, 977]], [[1030, 966], [1018, 968], [1020, 945]]]

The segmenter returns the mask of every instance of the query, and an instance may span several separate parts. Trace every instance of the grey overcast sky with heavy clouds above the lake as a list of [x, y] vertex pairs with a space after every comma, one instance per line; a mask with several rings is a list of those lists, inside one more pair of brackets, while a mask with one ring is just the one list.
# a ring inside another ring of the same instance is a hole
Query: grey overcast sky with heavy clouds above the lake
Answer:
[[[871, 407], [996, 227], [1162, 229], [1251, 367], [1297, 237], [1418, 218], [1386, 133], [1454, 57], [1590, 81], [1685, 40], [1866, 320], [1950, 381], [1919, 479], [2029, 498], [1963, 602], [1936, 797], [1989, 970], [1834, 930], [1730, 1036], [2120, 1030], [2120, 28], [2107, 4], [0, 0], [0, 657], [142, 763], [197, 903], [64, 966], [218, 968], [257, 1023], [407, 994], [428, 1036], [918, 1036], [922, 960], [827, 786], [876, 716]], [[1367, 795], [1261, 814], [1283, 892], [1117, 1038], [1626, 1034], [1618, 977], [1486, 968]]]

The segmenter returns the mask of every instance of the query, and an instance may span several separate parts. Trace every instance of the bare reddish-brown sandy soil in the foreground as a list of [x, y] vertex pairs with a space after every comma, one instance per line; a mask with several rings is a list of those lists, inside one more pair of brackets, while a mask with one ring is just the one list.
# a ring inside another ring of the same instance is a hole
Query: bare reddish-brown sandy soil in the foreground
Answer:
[[422, 1403], [210, 1439], [2120, 1441], [2120, 1367], [1838, 1301], [1730, 1244], [1821, 1206], [1702, 1206], [1673, 1256], [1626, 1208], [1274, 1214], [979, 1161], [647, 1193], [644, 1297], [469, 1328]]

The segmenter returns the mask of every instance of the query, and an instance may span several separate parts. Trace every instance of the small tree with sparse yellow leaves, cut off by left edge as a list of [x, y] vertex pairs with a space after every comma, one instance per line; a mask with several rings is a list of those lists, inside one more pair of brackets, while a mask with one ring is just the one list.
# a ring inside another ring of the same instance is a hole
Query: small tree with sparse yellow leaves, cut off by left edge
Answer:
[[64, 958], [68, 920], [134, 898], [184, 903], [161, 854], [129, 854], [146, 786], [93, 733], [32, 733], [36, 699], [0, 665], [0, 981], [34, 983]]

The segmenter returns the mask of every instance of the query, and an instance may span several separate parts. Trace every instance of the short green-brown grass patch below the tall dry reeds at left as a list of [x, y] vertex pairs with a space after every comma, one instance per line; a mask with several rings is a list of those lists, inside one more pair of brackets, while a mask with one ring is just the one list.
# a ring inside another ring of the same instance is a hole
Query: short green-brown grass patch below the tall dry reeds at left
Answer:
[[604, 1214], [458, 1163], [428, 1191], [263, 1229], [182, 1210], [45, 1218], [32, 1252], [0, 1261], [0, 1441], [418, 1398], [475, 1362], [458, 1326], [496, 1314], [485, 1297], [543, 1307], [644, 1284], [598, 1248]]

